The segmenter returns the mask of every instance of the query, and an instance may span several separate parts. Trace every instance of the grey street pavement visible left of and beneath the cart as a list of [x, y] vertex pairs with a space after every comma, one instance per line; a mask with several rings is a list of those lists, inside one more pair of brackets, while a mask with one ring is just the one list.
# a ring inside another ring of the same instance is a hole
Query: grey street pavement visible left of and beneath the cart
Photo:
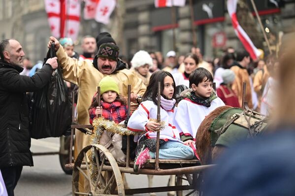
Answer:
[[[32, 139], [31, 151], [58, 152], [59, 138], [41, 140]], [[58, 155], [33, 156], [34, 167], [24, 167], [21, 178], [15, 188], [15, 196], [71, 196], [71, 175], [64, 173]], [[126, 174], [130, 188], [146, 188], [146, 175]], [[167, 186], [169, 176], [154, 176], [155, 187]], [[157, 193], [166, 196], [167, 193]], [[149, 196], [137, 194], [134, 196]]]

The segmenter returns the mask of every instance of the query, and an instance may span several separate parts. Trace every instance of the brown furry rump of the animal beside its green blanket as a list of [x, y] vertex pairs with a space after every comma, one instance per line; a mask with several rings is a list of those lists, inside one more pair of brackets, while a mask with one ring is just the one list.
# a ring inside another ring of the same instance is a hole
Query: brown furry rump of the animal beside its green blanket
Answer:
[[229, 108], [232, 107], [221, 106], [216, 108], [205, 117], [205, 119], [201, 122], [200, 126], [197, 129], [196, 148], [202, 165], [212, 163], [211, 156], [213, 147], [211, 146], [211, 133], [209, 132], [209, 127], [216, 117], [218, 117], [222, 112], [228, 110]]

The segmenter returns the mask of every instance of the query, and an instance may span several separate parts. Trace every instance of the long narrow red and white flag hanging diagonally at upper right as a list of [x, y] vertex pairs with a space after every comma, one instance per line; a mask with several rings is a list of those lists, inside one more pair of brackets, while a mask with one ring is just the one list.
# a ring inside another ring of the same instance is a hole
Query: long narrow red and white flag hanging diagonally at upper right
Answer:
[[232, 27], [234, 28], [235, 34], [238, 36], [242, 44], [244, 45], [246, 51], [250, 54], [253, 60], [256, 60], [261, 52], [254, 46], [250, 37], [240, 26], [237, 16], [236, 16], [236, 6], [238, 0], [228, 0], [228, 11], [231, 18]]

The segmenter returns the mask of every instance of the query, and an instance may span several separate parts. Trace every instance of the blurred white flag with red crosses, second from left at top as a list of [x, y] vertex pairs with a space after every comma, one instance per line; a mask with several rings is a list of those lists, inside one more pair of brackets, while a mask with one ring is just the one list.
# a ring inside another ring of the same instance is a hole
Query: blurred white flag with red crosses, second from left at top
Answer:
[[95, 19], [108, 24], [110, 15], [116, 7], [116, 0], [85, 0], [84, 19]]

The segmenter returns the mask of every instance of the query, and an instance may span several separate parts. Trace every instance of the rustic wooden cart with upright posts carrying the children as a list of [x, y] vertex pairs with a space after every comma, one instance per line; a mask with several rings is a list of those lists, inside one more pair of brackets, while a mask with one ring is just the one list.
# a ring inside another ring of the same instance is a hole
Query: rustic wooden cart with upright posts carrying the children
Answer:
[[[160, 85], [159, 85], [160, 86]], [[160, 90], [160, 87], [159, 87]], [[158, 90], [158, 92], [159, 92]], [[98, 89], [99, 91], [99, 89]], [[99, 94], [99, 93], [98, 93]], [[130, 86], [129, 86], [130, 100]], [[161, 93], [158, 93], [159, 95]], [[158, 99], [160, 100], [160, 98]], [[129, 109], [130, 109], [130, 101]], [[158, 104], [158, 120], [160, 120], [160, 104]], [[129, 111], [130, 113], [130, 111]], [[86, 134], [92, 134], [92, 125], [78, 125], [73, 122], [72, 135], [74, 129], [78, 129]], [[182, 196], [182, 191], [192, 190], [188, 195], [197, 191], [200, 182], [199, 173], [212, 165], [201, 166], [198, 160], [161, 160], [159, 159], [159, 136], [157, 136], [156, 159], [150, 159], [137, 172], [133, 171], [133, 161], [130, 160], [130, 137], [127, 138], [127, 158], [124, 163], [117, 163], [110, 151], [100, 144], [88, 145], [81, 150], [76, 160], [72, 164], [67, 164], [66, 168], [73, 169], [72, 194], [73, 196], [125, 196], [140, 193], [157, 193], [176, 191], [178, 196]], [[71, 147], [70, 147], [71, 148]], [[94, 152], [93, 160], [89, 161], [88, 154]], [[71, 155], [70, 155], [71, 160]], [[85, 161], [88, 160], [88, 161]], [[97, 168], [95, 179], [91, 176], [91, 168]], [[103, 172], [105, 171], [105, 172]], [[102, 174], [103, 172], [103, 174]], [[147, 174], [147, 175], [176, 175], [176, 186], [152, 187], [139, 189], [125, 189], [122, 173]], [[79, 176], [83, 175], [90, 184], [90, 190], [83, 192], [79, 190]], [[182, 181], [188, 181], [189, 185], [182, 185]]]

